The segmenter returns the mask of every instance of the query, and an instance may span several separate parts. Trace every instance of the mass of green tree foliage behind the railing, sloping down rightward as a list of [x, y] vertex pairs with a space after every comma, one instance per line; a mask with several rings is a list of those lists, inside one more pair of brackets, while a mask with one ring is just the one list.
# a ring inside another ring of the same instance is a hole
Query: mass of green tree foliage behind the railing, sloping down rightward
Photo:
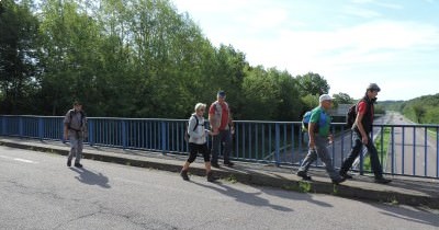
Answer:
[[251, 67], [212, 46], [168, 0], [30, 2], [2, 1], [4, 114], [63, 115], [80, 100], [89, 116], [185, 118], [225, 90], [235, 119], [299, 120], [329, 91], [318, 73]]

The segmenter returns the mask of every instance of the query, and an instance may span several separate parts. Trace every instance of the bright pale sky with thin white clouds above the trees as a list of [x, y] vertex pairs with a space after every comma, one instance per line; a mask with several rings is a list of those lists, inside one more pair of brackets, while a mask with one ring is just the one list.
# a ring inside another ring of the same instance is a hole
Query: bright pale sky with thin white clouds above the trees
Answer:
[[212, 45], [251, 66], [318, 73], [329, 94], [384, 100], [439, 93], [439, 0], [171, 0]]

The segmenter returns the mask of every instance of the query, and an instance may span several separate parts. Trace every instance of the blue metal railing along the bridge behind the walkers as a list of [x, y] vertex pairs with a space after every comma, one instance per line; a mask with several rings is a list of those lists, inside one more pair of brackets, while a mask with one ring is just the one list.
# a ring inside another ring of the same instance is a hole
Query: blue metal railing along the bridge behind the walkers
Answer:
[[[63, 140], [59, 116], [0, 116], [1, 136]], [[90, 146], [137, 149], [161, 153], [187, 154], [185, 119], [89, 117]], [[207, 127], [207, 123], [205, 124]], [[333, 124], [335, 141], [329, 146], [334, 164], [339, 168], [352, 145], [352, 134], [345, 124]], [[384, 131], [390, 129], [390, 134]], [[407, 133], [408, 130], [408, 133]], [[236, 120], [234, 160], [299, 165], [307, 151], [300, 122]], [[376, 134], [376, 135], [375, 135]], [[378, 151], [387, 174], [439, 179], [439, 125], [374, 125], [371, 137], [381, 143]], [[389, 140], [386, 146], [385, 140]], [[210, 141], [209, 141], [210, 143]], [[367, 151], [364, 151], [367, 152]], [[360, 154], [354, 169], [370, 173]], [[315, 166], [322, 166], [317, 161]]]

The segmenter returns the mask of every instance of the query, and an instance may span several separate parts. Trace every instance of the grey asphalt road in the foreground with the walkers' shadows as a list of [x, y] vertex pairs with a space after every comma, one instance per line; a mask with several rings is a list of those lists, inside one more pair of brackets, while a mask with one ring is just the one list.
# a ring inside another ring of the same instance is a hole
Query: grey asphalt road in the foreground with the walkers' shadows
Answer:
[[[0, 147], [0, 229], [438, 229], [439, 212]], [[183, 162], [182, 162], [183, 163]]]

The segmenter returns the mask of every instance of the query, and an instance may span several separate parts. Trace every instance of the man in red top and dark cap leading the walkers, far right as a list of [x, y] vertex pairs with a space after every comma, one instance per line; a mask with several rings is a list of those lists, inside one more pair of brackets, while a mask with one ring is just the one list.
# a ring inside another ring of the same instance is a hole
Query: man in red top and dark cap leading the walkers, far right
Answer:
[[372, 171], [375, 175], [375, 183], [387, 184], [391, 182], [389, 179], [383, 177], [383, 169], [378, 157], [378, 151], [373, 141], [370, 139], [372, 131], [374, 106], [376, 95], [381, 91], [376, 83], [371, 83], [365, 89], [365, 95], [357, 103], [357, 118], [352, 125], [352, 149], [349, 156], [341, 164], [340, 175], [346, 179], [352, 179], [347, 172], [352, 166], [353, 161], [361, 152], [363, 145], [368, 148]]

